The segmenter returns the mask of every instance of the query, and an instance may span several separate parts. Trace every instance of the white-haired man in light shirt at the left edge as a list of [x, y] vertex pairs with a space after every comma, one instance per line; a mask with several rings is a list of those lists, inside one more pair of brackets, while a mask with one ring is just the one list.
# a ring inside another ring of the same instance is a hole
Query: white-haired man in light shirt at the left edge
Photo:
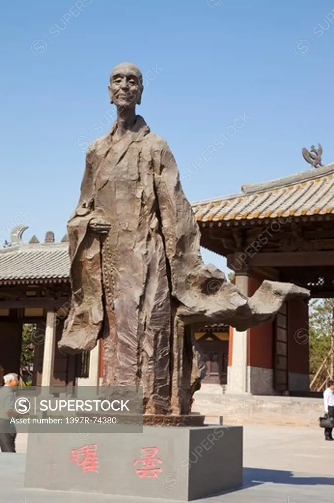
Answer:
[[11, 424], [11, 417], [17, 415], [15, 411], [15, 390], [19, 378], [17, 374], [6, 374], [4, 386], [0, 388], [0, 448], [2, 452], [16, 452], [16, 429]]

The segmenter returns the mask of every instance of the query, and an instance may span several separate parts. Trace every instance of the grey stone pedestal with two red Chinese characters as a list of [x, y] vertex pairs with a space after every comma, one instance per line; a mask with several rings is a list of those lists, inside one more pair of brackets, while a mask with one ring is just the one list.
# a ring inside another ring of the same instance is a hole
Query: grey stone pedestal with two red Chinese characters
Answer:
[[25, 487], [190, 501], [242, 485], [242, 427], [29, 434]]

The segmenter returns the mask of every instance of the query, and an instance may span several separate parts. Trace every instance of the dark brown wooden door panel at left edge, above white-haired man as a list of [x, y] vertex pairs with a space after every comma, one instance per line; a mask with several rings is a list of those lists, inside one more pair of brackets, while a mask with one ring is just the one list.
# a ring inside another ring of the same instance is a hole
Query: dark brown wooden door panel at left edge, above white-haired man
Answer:
[[4, 375], [19, 374], [22, 344], [22, 324], [18, 321], [0, 321], [0, 366]]

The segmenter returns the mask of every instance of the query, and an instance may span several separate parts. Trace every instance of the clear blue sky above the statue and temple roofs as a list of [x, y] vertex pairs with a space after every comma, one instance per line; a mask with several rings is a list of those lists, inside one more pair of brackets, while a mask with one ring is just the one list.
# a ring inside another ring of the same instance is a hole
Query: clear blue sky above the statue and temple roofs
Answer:
[[329, 0], [2, 0], [0, 239], [21, 212], [26, 239], [64, 235], [122, 61], [147, 78], [138, 113], [167, 139], [190, 201], [303, 171], [313, 143], [334, 161], [333, 19]]

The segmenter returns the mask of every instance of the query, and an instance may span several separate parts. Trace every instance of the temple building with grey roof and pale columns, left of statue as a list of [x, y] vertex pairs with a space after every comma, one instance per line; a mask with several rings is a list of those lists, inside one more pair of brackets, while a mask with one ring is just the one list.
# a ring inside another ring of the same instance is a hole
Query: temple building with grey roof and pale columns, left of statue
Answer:
[[88, 374], [80, 368], [84, 355], [67, 356], [56, 344], [70, 306], [67, 238], [55, 243], [47, 232], [43, 243], [35, 236], [25, 243], [26, 229], [13, 229], [11, 245], [0, 249], [0, 365], [19, 373], [23, 325], [33, 324], [32, 384], [74, 385]]

